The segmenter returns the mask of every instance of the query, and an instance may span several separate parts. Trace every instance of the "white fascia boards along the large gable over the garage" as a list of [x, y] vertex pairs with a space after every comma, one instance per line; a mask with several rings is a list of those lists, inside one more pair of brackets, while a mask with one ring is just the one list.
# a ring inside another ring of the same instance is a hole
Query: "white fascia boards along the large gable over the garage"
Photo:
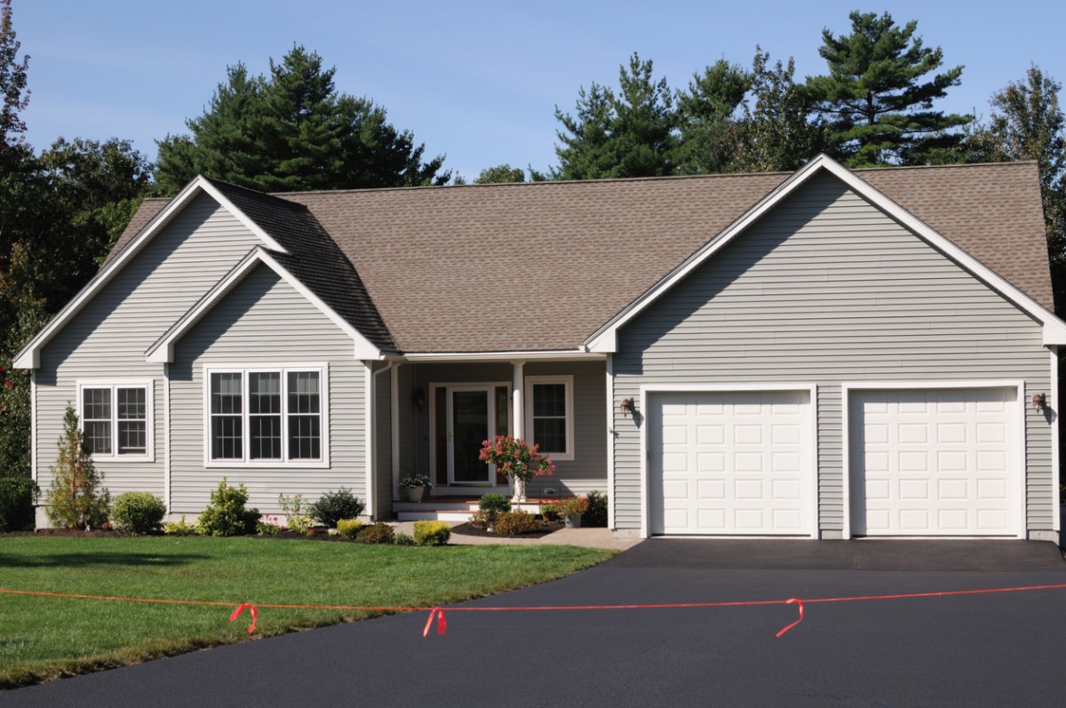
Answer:
[[789, 194], [809, 180], [820, 170], [825, 170], [841, 179], [854, 192], [869, 199], [874, 206], [885, 211], [889, 216], [900, 222], [904, 227], [911, 230], [919, 238], [930, 243], [930, 245], [934, 248], [958, 263], [964, 270], [983, 280], [992, 290], [999, 292], [1001, 295], [1014, 303], [1019, 309], [1039, 322], [1044, 326], [1045, 345], [1066, 344], [1066, 322], [1063, 322], [1063, 320], [1059, 319], [1059, 317], [1056, 317], [1053, 312], [1016, 288], [1006, 279], [996, 274], [987, 266], [959, 248], [949, 239], [941, 236], [925, 222], [921, 221], [899, 204], [885, 196], [885, 194], [874, 189], [874, 187], [870, 183], [850, 172], [842, 164], [825, 155], [819, 155], [813, 160], [797, 170], [791, 177], [778, 184], [777, 188], [760, 199], [758, 204], [748, 209], [737, 221], [726, 227], [725, 230], [720, 232], [699, 251], [674, 269], [669, 275], [648, 289], [644, 294], [630, 303], [626, 309], [596, 331], [585, 342], [588, 350], [594, 352], [616, 351], [617, 332], [624, 324], [636, 317], [636, 315], [643, 311], [644, 308], [658, 300], [660, 295], [673, 288], [693, 270], [701, 266], [705, 261], [707, 261], [707, 259], [717, 253], [718, 250], [732, 241], [756, 220], [770, 211], [770, 209], [788, 197]]

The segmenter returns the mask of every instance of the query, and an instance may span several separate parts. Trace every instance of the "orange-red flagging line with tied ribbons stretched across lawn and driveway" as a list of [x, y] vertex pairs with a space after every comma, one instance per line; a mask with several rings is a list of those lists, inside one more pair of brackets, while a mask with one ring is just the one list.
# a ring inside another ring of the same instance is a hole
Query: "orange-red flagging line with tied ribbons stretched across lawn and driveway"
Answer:
[[[674, 602], [656, 605], [542, 605], [542, 606], [518, 606], [518, 607], [450, 607], [449, 612], [542, 612], [542, 611], [571, 611], [571, 610], [677, 610], [684, 608], [711, 608], [711, 607], [753, 607], [760, 605], [793, 605], [800, 610], [800, 618], [787, 625], [777, 637], [781, 637], [801, 622], [803, 622], [804, 604], [813, 602], [857, 602], [863, 600], [899, 600], [917, 597], [950, 597], [953, 595], [988, 595], [991, 593], [1020, 593], [1036, 590], [1063, 590], [1066, 583], [1054, 585], [1025, 585], [1020, 588], [983, 588], [980, 590], [947, 590], [935, 593], [902, 593], [898, 595], [858, 595], [854, 597], [813, 597], [800, 599], [790, 597], [787, 600], [744, 600], [730, 602]], [[72, 593], [45, 593], [32, 590], [6, 590], [0, 588], [0, 593], [7, 595], [34, 595], [38, 597], [65, 597], [86, 600], [116, 600], [122, 602], [157, 602], [163, 605], [199, 605], [209, 607], [233, 607], [233, 602], [213, 602], [210, 600], [176, 600], [156, 597], [117, 597], [111, 595], [76, 595]], [[278, 610], [368, 610], [373, 612], [430, 612], [422, 637], [430, 634], [433, 621], [437, 621], [437, 633], [443, 634], [448, 630], [448, 623], [445, 621], [445, 609], [440, 606], [433, 608], [425, 607], [391, 607], [374, 605], [285, 605], [270, 602], [241, 602], [229, 615], [230, 622], [237, 620], [241, 612], [247, 608], [252, 614], [252, 624], [248, 626], [248, 633], [255, 631], [256, 618], [259, 616], [257, 608], [271, 608]]]

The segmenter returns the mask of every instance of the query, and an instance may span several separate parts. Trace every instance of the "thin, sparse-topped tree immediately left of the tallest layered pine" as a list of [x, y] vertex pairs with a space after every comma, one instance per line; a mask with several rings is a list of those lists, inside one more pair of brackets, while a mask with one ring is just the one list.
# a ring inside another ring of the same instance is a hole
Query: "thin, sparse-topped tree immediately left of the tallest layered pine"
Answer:
[[822, 151], [825, 122], [810, 117], [811, 99], [795, 82], [795, 63], [770, 63], [770, 52], [756, 47], [752, 63], [752, 98], [745, 102], [737, 167], [744, 172], [792, 172]]

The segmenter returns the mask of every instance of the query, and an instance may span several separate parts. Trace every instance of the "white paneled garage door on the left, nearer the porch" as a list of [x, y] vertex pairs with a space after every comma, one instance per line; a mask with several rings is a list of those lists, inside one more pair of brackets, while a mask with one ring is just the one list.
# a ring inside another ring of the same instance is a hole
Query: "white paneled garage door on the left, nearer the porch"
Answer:
[[810, 414], [808, 390], [652, 397], [650, 532], [810, 534]]

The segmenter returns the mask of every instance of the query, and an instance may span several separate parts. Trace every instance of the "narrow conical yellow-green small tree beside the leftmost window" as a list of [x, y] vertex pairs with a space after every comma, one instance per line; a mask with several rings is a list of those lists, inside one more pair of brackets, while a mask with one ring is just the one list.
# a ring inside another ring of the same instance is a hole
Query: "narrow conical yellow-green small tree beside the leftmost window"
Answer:
[[100, 484], [93, 457], [78, 429], [78, 414], [67, 405], [63, 416], [60, 456], [52, 466], [48, 518], [60, 529], [91, 529], [108, 520], [111, 495]]

